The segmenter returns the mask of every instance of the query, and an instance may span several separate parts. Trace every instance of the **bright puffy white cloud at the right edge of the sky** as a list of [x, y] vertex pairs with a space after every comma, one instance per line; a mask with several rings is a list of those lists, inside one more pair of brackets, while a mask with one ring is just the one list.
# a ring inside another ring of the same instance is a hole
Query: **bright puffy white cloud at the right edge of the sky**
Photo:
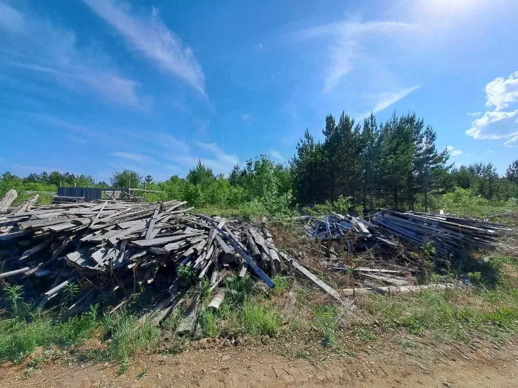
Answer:
[[[498, 77], [484, 87], [485, 106], [493, 110], [473, 120], [466, 135], [477, 140], [506, 139], [502, 145], [518, 145], [518, 71]], [[509, 110], [511, 108], [511, 110]], [[512, 110], [512, 108], [516, 108]]]

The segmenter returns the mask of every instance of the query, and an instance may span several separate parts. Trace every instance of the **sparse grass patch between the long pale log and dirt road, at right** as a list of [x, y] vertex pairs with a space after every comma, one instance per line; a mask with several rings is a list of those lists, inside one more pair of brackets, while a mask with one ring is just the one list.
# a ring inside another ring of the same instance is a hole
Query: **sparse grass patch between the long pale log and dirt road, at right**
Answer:
[[494, 340], [518, 334], [518, 266], [505, 256], [488, 263], [497, 273], [495, 283], [476, 276], [469, 289], [367, 295], [361, 301], [367, 320], [376, 320], [385, 331], [406, 327], [411, 334], [428, 331], [452, 340], [475, 333]]

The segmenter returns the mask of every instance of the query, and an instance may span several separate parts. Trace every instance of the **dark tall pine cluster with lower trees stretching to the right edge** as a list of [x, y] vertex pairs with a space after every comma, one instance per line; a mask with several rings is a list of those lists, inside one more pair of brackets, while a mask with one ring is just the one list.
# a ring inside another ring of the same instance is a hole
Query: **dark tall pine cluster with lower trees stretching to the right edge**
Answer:
[[306, 130], [290, 161], [298, 203], [312, 205], [349, 197], [352, 206], [372, 210], [433, 206], [433, 197], [455, 187], [488, 200], [518, 198], [518, 161], [499, 177], [492, 163], [453, 168], [447, 149], [438, 150], [436, 133], [409, 113], [378, 123], [371, 114], [363, 124], [345, 113], [328, 115], [323, 142]]

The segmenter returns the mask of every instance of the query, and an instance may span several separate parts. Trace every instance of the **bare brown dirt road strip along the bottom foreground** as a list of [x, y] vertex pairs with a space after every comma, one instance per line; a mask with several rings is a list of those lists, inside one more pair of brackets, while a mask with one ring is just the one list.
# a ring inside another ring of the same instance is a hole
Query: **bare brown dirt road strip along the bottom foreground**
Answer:
[[[94, 346], [94, 344], [90, 344]], [[278, 354], [270, 345], [222, 347], [221, 340], [191, 344], [181, 354], [143, 354], [119, 374], [119, 365], [47, 361], [25, 380], [25, 365], [4, 363], [0, 387], [516, 387], [518, 339], [502, 346], [431, 344], [416, 336], [310, 359]]]

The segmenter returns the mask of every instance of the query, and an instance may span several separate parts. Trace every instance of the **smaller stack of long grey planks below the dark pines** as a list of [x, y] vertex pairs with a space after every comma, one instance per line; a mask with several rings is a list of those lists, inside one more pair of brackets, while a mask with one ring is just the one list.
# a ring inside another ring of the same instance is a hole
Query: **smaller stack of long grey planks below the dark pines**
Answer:
[[322, 241], [346, 237], [355, 241], [356, 248], [367, 250], [377, 244], [397, 247], [399, 242], [406, 242], [420, 248], [430, 242], [439, 256], [474, 248], [495, 249], [498, 239], [512, 231], [505, 225], [482, 219], [396, 209], [383, 209], [373, 214], [370, 221], [337, 213], [304, 218], [306, 234]]

